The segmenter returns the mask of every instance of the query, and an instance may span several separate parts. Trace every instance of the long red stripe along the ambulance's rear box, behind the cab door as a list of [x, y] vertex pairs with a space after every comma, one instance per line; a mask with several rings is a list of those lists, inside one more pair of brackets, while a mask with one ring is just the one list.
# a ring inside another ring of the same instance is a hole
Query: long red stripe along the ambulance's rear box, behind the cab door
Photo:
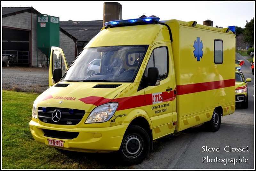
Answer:
[[177, 85], [177, 95], [184, 95], [184, 94], [196, 93], [201, 91], [232, 87], [235, 85], [236, 85], [235, 79], [214, 81], [214, 82], [202, 82], [202, 83], [187, 84], [187, 85]]

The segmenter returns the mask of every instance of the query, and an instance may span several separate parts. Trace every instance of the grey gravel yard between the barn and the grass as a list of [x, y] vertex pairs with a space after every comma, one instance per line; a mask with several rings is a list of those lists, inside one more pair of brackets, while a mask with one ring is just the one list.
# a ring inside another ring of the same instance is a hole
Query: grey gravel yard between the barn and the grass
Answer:
[[4, 90], [42, 93], [49, 88], [47, 67], [2, 67], [1, 86]]

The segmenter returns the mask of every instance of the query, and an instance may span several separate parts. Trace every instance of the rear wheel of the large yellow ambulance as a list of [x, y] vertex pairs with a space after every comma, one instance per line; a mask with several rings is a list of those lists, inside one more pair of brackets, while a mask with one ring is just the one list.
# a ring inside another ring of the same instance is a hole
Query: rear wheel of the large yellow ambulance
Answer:
[[218, 131], [220, 129], [220, 124], [221, 124], [221, 114], [214, 109], [213, 114], [212, 114], [212, 119], [206, 122], [207, 128], [212, 131]]

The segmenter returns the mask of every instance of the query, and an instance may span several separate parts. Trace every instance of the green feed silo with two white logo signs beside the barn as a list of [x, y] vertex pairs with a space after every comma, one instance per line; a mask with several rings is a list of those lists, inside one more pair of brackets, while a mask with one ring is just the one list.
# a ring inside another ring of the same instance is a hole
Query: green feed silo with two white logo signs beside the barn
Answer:
[[51, 47], [60, 47], [60, 18], [37, 15], [37, 48], [50, 58]]

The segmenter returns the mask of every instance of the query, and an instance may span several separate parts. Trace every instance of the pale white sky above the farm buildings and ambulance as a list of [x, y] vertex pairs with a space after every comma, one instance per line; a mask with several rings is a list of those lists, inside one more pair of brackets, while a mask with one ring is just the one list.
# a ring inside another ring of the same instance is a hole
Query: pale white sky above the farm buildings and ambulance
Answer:
[[144, 14], [197, 24], [209, 19], [213, 27], [244, 28], [246, 21], [255, 16], [255, 1], [1, 1], [1, 7], [33, 7], [41, 14], [59, 17], [60, 21], [93, 21], [103, 20], [104, 2], [120, 3], [122, 19]]

